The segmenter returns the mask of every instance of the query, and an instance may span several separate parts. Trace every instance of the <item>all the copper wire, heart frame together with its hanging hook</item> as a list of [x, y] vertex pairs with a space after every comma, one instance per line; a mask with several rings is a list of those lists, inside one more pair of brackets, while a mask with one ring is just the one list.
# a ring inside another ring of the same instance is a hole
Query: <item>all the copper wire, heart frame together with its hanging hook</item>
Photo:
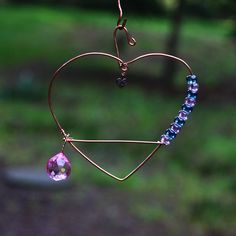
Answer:
[[[188, 72], [190, 74], [192, 73], [192, 69], [191, 67], [181, 58], [178, 58], [176, 56], [172, 56], [169, 54], [165, 54], [165, 53], [147, 53], [141, 56], [138, 56], [130, 61], [124, 61], [123, 59], [120, 58], [120, 52], [119, 52], [119, 47], [117, 44], [117, 31], [118, 30], [123, 30], [126, 34], [126, 39], [129, 45], [134, 46], [136, 44], [136, 40], [129, 34], [128, 29], [126, 28], [126, 23], [127, 20], [123, 20], [122, 22], [122, 17], [123, 17], [123, 11], [121, 8], [121, 4], [120, 4], [120, 0], [118, 0], [118, 8], [120, 11], [119, 14], [119, 18], [117, 21], [117, 26], [114, 29], [114, 33], [113, 33], [113, 39], [114, 39], [114, 45], [115, 45], [115, 50], [116, 50], [116, 56], [111, 55], [109, 53], [104, 53], [104, 52], [88, 52], [88, 53], [84, 53], [84, 54], [80, 54], [76, 57], [71, 58], [70, 60], [66, 61], [63, 65], [61, 65], [56, 72], [54, 73], [50, 83], [49, 83], [49, 88], [48, 88], [48, 105], [49, 105], [49, 109], [50, 112], [52, 114], [52, 117], [60, 131], [60, 133], [63, 136], [63, 146], [62, 146], [62, 151], [64, 151], [65, 148], [65, 144], [69, 143], [71, 145], [71, 147], [77, 151], [79, 154], [81, 154], [81, 156], [83, 156], [90, 164], [92, 164], [94, 167], [96, 167], [97, 169], [99, 169], [100, 171], [102, 171], [103, 173], [107, 174], [108, 176], [112, 177], [113, 179], [116, 179], [118, 181], [124, 181], [126, 179], [128, 179], [131, 175], [133, 175], [136, 171], [138, 171], [148, 160], [150, 160], [153, 155], [159, 150], [159, 148], [162, 146], [162, 143], [160, 141], [143, 141], [143, 140], [86, 140], [86, 139], [73, 139], [70, 137], [69, 134], [67, 134], [64, 129], [62, 128], [61, 124], [59, 123], [59, 120], [54, 112], [53, 109], [53, 104], [52, 104], [52, 88], [53, 88], [53, 83], [55, 81], [55, 79], [58, 77], [59, 73], [65, 68], [67, 67], [69, 64], [73, 63], [74, 61], [77, 61], [81, 58], [84, 57], [89, 57], [89, 56], [102, 56], [102, 57], [106, 57], [106, 58], [110, 58], [112, 60], [115, 60], [121, 70], [121, 73], [123, 75], [123, 73], [125, 73], [128, 69], [128, 66], [135, 63], [136, 61], [139, 61], [141, 59], [144, 58], [150, 58], [150, 57], [166, 57], [168, 59], [177, 61], [181, 64], [183, 64]], [[145, 159], [137, 166], [135, 167], [129, 174], [127, 174], [125, 177], [120, 178], [117, 177], [113, 174], [111, 174], [109, 171], [105, 170], [104, 168], [102, 168], [100, 165], [98, 165], [96, 162], [94, 162], [88, 155], [84, 154], [76, 145], [75, 143], [129, 143], [129, 144], [154, 144], [156, 145], [155, 148], [153, 149], [153, 151], [147, 155], [145, 157]]]

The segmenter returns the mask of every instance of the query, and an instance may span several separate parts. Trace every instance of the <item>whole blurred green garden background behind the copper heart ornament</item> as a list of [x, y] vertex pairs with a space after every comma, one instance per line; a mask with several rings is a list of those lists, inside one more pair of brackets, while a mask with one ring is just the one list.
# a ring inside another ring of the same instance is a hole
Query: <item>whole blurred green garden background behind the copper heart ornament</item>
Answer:
[[[137, 40], [129, 47], [118, 32], [122, 58], [147, 52], [183, 58], [199, 77], [199, 102], [172, 145], [124, 183], [67, 147], [72, 176], [58, 189], [24, 182], [13, 187], [13, 177], [4, 173], [43, 172], [47, 159], [60, 151], [61, 136], [47, 106], [48, 83], [73, 56], [115, 54], [117, 2], [0, 4], [1, 235], [236, 235], [235, 1], [122, 1]], [[184, 99], [185, 76], [181, 66], [144, 60], [130, 66], [129, 84], [120, 89], [115, 62], [82, 59], [56, 82], [56, 113], [74, 138], [158, 140]], [[80, 148], [122, 175], [153, 147]]]

